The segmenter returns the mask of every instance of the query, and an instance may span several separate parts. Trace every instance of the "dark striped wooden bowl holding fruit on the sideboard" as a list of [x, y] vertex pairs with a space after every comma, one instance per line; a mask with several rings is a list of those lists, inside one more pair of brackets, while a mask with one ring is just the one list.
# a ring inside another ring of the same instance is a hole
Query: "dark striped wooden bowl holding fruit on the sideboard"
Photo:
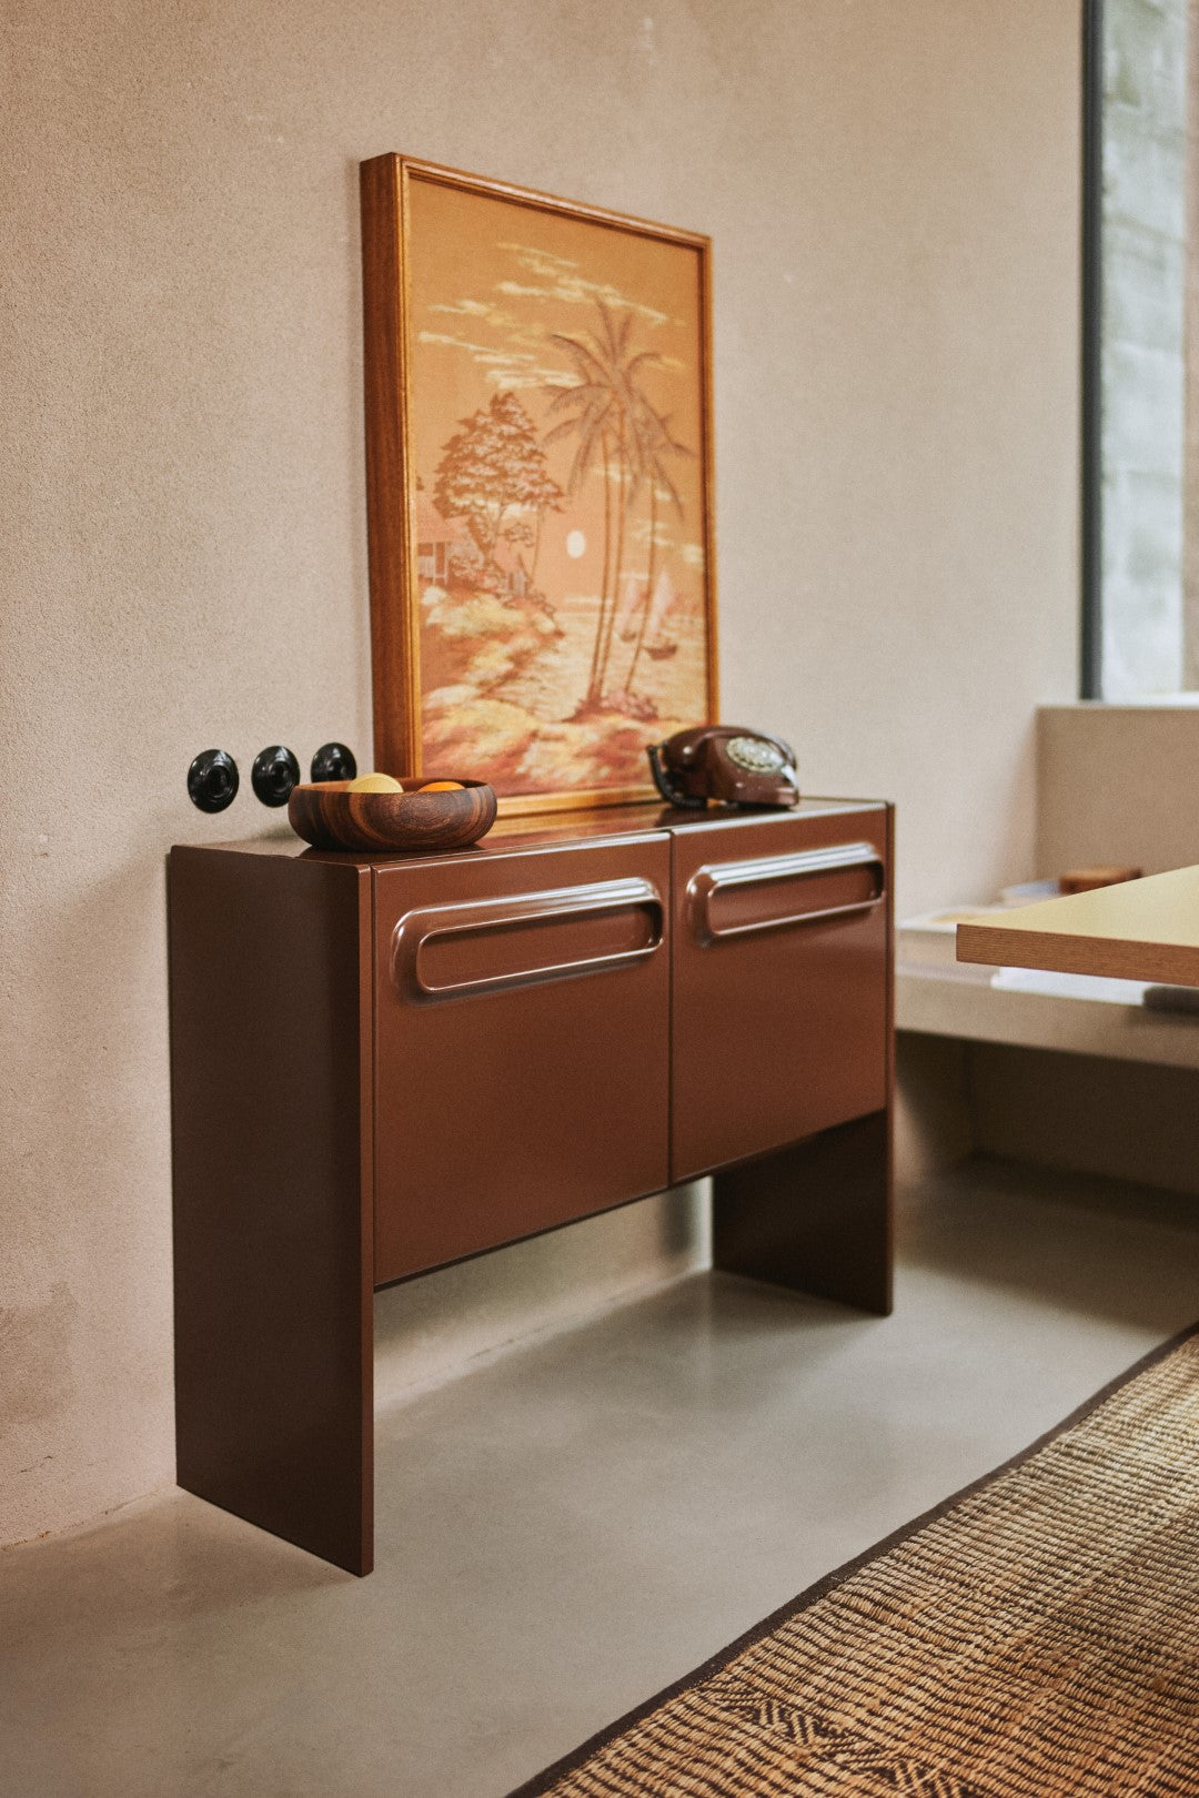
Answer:
[[291, 788], [288, 820], [313, 849], [466, 849], [496, 822], [494, 788], [485, 780], [464, 780], [449, 793], [349, 793], [347, 788], [349, 780]]

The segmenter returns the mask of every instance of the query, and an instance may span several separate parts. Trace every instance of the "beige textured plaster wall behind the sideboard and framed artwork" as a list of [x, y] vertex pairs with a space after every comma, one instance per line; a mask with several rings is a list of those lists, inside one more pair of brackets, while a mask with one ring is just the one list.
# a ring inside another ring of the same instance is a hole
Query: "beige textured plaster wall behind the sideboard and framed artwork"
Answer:
[[[1028, 872], [1073, 685], [1077, 23], [9, 0], [0, 1541], [171, 1476], [162, 856], [264, 818], [187, 759], [369, 739], [358, 158], [714, 234], [724, 712], [899, 800], [917, 910]], [[624, 1215], [493, 1257], [496, 1314], [678, 1264]]]

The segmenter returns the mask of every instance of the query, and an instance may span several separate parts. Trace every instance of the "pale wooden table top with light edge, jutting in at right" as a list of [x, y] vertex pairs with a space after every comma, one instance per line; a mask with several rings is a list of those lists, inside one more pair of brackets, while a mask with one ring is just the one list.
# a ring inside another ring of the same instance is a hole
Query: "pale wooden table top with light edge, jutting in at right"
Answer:
[[1199, 867], [958, 924], [958, 960], [1199, 987]]

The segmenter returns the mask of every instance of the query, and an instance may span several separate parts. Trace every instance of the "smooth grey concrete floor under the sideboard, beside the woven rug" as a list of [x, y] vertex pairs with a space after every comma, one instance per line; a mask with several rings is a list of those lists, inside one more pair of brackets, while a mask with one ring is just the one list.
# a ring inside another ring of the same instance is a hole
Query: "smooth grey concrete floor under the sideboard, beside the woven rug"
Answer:
[[377, 1422], [356, 1580], [185, 1494], [0, 1557], [0, 1793], [500, 1798], [1199, 1316], [1199, 1201], [969, 1163], [897, 1311], [696, 1277]]

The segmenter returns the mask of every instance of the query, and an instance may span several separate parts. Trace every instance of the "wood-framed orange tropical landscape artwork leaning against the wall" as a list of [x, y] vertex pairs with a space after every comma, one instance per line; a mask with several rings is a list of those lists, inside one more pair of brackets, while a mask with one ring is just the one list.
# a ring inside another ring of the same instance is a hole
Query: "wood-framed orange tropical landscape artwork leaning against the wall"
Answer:
[[708, 239], [394, 155], [361, 201], [376, 766], [649, 797], [717, 714]]

